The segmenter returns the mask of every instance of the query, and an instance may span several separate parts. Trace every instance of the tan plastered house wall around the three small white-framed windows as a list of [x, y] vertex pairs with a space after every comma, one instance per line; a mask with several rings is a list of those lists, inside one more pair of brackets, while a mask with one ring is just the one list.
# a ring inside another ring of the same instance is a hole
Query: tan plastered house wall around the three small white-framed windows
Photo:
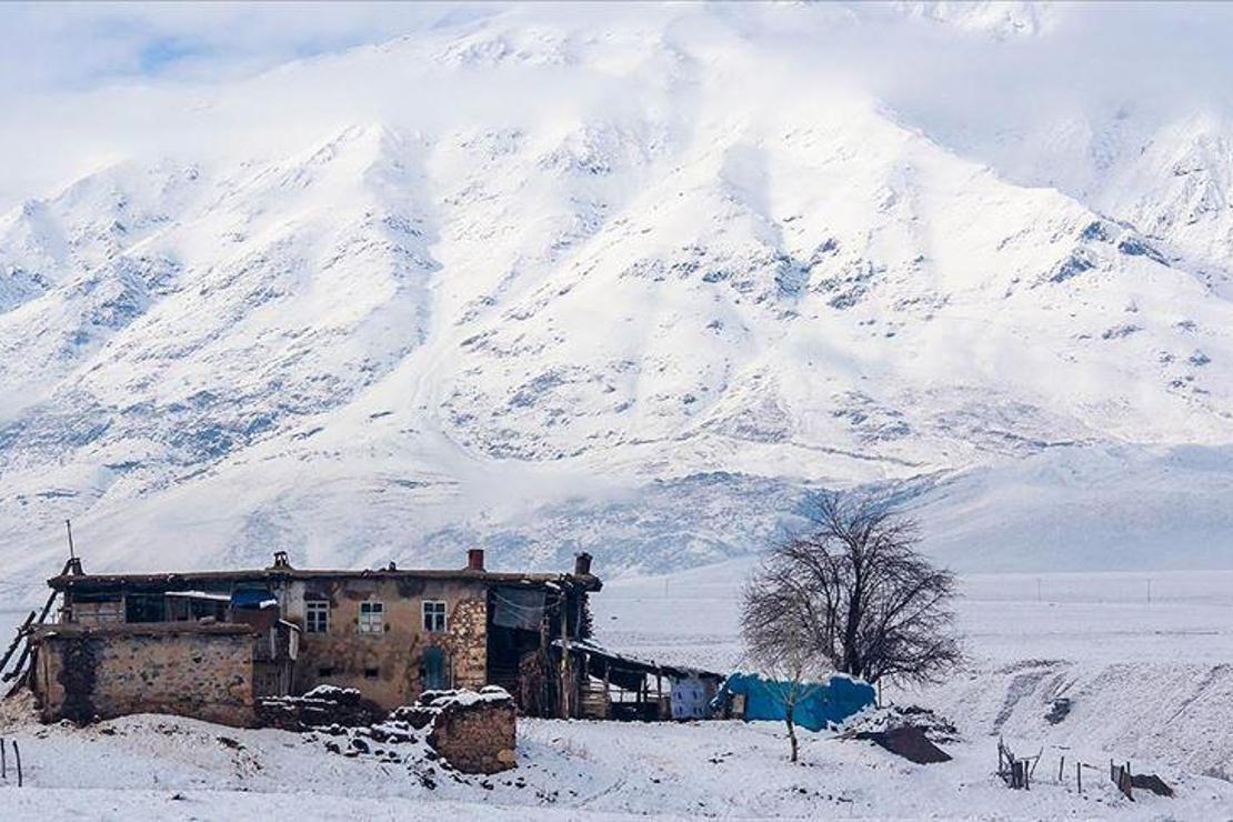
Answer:
[[[291, 583], [286, 619], [307, 627], [306, 598], [329, 603], [329, 630], [305, 632], [293, 693], [317, 685], [354, 688], [386, 709], [424, 691], [424, 651], [446, 653], [448, 686], [478, 688], [487, 678], [487, 587], [456, 579], [319, 579]], [[425, 600], [445, 601], [448, 630], [424, 631]], [[383, 605], [380, 633], [360, 631], [360, 604]]]

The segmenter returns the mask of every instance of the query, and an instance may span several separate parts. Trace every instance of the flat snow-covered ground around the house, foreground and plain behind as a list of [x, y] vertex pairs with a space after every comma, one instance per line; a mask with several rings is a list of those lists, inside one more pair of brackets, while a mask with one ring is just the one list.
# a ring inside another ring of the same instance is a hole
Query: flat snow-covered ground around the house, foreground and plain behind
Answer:
[[[594, 600], [600, 640], [729, 668], [746, 563], [615, 580]], [[1150, 603], [1147, 598], [1152, 583]], [[517, 770], [435, 787], [403, 764], [348, 759], [321, 739], [170, 717], [42, 727], [10, 707], [26, 786], [5, 818], [614, 818], [651, 815], [877, 818], [1226, 818], [1233, 812], [1233, 573], [979, 576], [963, 580], [968, 670], [885, 698], [935, 707], [963, 739], [914, 765], [868, 743], [805, 733], [787, 762], [771, 723], [524, 720]], [[1071, 699], [1059, 723], [1054, 696]], [[999, 735], [1042, 754], [1030, 792], [993, 775]], [[242, 747], [219, 741], [233, 739]], [[1057, 783], [1065, 755], [1067, 781]], [[1107, 763], [1155, 770], [1178, 796], [1122, 799]], [[1075, 791], [1073, 763], [1096, 765]]]

